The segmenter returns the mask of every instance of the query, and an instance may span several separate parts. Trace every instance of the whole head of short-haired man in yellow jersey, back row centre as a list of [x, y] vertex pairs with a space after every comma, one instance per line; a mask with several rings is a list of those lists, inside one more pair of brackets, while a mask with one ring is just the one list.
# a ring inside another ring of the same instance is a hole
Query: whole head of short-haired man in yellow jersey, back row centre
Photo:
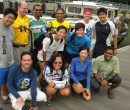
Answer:
[[58, 21], [62, 21], [64, 20], [64, 17], [65, 17], [65, 11], [63, 8], [58, 8], [55, 12], [55, 16], [56, 16], [56, 19]]

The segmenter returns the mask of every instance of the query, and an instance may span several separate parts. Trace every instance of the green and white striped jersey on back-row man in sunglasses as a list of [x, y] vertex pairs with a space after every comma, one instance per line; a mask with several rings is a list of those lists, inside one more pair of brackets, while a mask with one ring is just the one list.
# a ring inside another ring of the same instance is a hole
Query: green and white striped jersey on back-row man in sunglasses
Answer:
[[41, 28], [46, 25], [46, 21], [41, 17], [39, 21], [35, 19], [35, 17], [30, 18], [30, 32], [31, 32], [31, 47], [35, 49], [34, 47], [34, 41], [36, 38], [39, 37], [41, 34]]

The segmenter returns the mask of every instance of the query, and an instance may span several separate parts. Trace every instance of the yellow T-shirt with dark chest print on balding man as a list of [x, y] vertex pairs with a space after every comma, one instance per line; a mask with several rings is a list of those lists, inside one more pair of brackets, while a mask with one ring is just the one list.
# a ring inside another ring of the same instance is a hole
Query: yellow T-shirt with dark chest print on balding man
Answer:
[[29, 41], [29, 17], [18, 15], [12, 27], [14, 29], [13, 42], [17, 45], [27, 45]]

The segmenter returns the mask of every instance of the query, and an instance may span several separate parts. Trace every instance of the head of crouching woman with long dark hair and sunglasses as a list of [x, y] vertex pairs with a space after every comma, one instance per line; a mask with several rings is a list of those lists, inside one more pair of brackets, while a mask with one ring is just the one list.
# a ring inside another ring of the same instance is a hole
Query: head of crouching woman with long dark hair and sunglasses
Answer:
[[48, 62], [48, 66], [51, 69], [55, 69], [55, 70], [61, 69], [62, 71], [64, 71], [65, 62], [62, 55], [60, 53], [54, 53]]

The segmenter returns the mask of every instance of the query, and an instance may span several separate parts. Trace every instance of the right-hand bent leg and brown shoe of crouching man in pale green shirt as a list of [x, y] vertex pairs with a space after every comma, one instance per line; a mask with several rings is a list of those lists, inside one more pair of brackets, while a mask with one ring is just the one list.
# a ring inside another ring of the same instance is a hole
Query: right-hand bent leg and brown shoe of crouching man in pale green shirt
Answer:
[[108, 88], [108, 90], [107, 90], [108, 98], [114, 99], [114, 94], [113, 94], [112, 90], [117, 88], [121, 84], [121, 78], [120, 78], [120, 76], [117, 75], [108, 82], [111, 83], [110, 88]]

